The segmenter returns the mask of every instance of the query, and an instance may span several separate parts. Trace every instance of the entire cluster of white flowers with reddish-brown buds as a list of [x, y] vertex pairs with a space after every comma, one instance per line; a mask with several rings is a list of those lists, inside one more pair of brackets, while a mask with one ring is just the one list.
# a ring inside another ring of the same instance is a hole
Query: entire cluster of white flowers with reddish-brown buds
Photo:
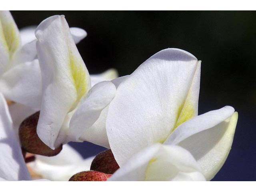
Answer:
[[[132, 74], [90, 75], [64, 16], [18, 30], [0, 12], [0, 180], [211, 180], [238, 113], [198, 115], [201, 61], [162, 50]], [[68, 142], [108, 150], [83, 159]]]

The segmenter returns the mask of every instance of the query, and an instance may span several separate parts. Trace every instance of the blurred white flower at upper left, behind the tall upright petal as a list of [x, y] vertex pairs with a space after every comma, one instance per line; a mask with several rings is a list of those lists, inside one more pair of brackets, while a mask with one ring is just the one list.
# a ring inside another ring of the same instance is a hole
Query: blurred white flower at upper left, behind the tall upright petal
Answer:
[[[40, 109], [42, 81], [34, 27], [19, 32], [9, 11], [0, 11], [0, 92], [8, 100]], [[87, 34], [70, 28], [78, 43]]]

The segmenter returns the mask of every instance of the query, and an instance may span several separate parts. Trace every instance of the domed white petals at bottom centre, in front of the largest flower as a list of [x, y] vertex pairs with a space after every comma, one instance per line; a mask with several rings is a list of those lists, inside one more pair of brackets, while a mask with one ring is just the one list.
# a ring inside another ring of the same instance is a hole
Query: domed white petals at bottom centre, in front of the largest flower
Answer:
[[193, 156], [179, 146], [154, 144], [130, 158], [109, 181], [205, 180]]

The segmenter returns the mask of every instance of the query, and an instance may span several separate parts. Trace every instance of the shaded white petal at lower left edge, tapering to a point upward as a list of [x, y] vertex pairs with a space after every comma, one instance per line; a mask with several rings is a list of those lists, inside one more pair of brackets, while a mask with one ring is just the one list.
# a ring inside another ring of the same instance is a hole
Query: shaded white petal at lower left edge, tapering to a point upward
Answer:
[[30, 180], [4, 96], [0, 94], [0, 178]]

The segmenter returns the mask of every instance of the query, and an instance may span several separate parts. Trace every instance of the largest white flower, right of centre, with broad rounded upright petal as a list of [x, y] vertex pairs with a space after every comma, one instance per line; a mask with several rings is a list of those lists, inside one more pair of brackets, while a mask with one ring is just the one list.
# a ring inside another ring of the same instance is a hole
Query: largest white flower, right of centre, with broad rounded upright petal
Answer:
[[102, 110], [87, 140], [96, 143], [92, 135], [106, 128], [101, 145], [110, 146], [120, 167], [152, 144], [180, 145], [194, 156], [206, 179], [212, 179], [228, 156], [238, 114], [226, 106], [197, 116], [200, 63], [184, 50], [166, 49], [130, 76], [118, 78], [114, 99]]

